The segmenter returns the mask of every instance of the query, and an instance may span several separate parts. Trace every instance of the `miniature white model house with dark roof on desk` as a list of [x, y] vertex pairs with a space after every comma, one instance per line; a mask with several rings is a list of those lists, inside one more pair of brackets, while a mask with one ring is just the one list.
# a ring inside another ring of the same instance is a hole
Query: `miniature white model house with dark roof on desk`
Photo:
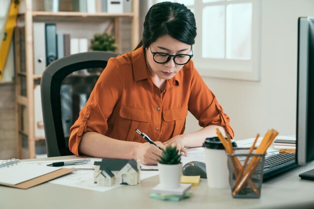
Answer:
[[94, 165], [94, 181], [97, 185], [136, 185], [140, 182], [140, 165], [134, 159], [102, 159], [95, 161]]

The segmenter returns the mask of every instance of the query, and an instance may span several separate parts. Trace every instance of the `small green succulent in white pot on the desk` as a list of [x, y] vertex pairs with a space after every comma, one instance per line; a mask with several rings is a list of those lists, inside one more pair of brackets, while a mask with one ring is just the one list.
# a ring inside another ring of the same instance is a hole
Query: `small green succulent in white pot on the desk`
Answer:
[[180, 187], [182, 163], [176, 146], [167, 146], [158, 161], [159, 179], [162, 188]]

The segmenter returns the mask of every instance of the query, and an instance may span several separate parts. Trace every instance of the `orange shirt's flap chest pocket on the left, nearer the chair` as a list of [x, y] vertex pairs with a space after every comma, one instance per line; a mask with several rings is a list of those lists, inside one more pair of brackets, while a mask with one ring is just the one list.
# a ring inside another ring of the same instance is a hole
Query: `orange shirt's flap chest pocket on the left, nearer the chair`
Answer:
[[139, 126], [146, 127], [144, 129], [141, 128], [142, 130], [147, 129], [151, 120], [150, 112], [126, 106], [120, 108], [119, 115], [122, 118], [118, 124], [119, 130], [128, 130], [128, 132], [123, 131], [120, 139], [126, 141], [134, 141], [135, 129]]

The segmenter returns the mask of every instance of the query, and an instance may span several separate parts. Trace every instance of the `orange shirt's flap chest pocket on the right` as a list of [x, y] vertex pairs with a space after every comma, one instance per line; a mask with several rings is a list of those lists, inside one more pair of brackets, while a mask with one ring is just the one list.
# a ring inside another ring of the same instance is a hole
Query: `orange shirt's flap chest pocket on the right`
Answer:
[[180, 135], [184, 132], [187, 116], [188, 106], [163, 111], [164, 121], [168, 123], [165, 125], [170, 125], [173, 127], [171, 137]]

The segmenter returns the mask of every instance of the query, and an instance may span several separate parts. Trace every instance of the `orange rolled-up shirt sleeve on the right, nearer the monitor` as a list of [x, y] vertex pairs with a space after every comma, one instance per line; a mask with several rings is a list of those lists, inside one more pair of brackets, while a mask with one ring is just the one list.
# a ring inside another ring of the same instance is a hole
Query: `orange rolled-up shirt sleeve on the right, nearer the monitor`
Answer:
[[199, 125], [223, 126], [233, 138], [234, 132], [230, 125], [230, 118], [224, 113], [213, 92], [207, 87], [200, 74], [193, 66], [189, 111], [198, 119]]

